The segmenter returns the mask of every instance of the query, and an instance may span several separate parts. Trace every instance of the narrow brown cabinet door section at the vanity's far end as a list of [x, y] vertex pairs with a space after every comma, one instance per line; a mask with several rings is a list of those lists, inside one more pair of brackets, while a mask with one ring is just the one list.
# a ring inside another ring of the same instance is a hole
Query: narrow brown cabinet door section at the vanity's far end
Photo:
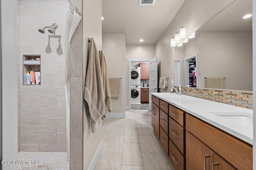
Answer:
[[151, 125], [159, 139], [159, 107], [157, 107], [153, 102], [151, 104]]

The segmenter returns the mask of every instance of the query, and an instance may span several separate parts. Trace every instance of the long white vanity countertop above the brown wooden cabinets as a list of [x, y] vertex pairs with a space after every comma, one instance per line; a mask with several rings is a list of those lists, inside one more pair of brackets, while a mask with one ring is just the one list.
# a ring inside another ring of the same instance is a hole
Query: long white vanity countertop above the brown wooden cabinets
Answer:
[[186, 95], [178, 95], [170, 93], [151, 93], [152, 95], [176, 106], [235, 137], [242, 139], [243, 141], [252, 145], [253, 143], [253, 125], [244, 126], [240, 121], [237, 120], [229, 120], [227, 118], [223, 118], [217, 115], [214, 115], [210, 112], [246, 112], [250, 113], [252, 116], [252, 109], [246, 109], [243, 107], [232, 106], [228, 104], [223, 104], [219, 102], [213, 102], [210, 100], [195, 98]]

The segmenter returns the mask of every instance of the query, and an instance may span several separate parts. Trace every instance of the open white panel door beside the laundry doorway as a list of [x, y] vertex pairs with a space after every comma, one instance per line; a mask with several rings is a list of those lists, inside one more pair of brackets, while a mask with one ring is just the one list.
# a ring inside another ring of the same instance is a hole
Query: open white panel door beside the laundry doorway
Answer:
[[151, 110], [151, 93], [157, 92], [157, 57], [149, 61], [149, 110]]

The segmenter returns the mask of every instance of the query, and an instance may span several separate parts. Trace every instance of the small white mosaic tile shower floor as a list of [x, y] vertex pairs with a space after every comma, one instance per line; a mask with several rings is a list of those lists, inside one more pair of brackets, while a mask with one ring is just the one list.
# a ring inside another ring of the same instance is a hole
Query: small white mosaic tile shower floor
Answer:
[[66, 152], [19, 152], [18, 160], [41, 161], [36, 165], [18, 164], [18, 170], [69, 170]]

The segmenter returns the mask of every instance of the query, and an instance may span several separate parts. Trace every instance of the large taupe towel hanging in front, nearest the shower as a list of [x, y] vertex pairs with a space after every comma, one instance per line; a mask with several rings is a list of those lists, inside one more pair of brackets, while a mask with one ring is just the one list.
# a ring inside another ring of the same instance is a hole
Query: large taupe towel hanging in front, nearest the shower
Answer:
[[105, 113], [105, 103], [99, 53], [94, 39], [91, 38], [90, 40], [90, 53], [86, 72], [84, 99], [89, 106], [89, 112], [92, 118], [92, 133], [94, 133], [98, 126], [98, 120]]

